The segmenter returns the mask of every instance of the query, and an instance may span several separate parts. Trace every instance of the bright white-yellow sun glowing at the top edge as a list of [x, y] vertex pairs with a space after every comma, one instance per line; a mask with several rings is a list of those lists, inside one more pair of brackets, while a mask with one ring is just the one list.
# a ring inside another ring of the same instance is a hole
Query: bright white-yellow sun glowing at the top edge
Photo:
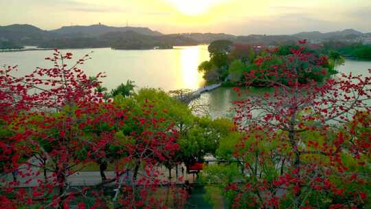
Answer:
[[207, 12], [218, 0], [171, 0], [177, 10], [187, 15], [199, 15]]

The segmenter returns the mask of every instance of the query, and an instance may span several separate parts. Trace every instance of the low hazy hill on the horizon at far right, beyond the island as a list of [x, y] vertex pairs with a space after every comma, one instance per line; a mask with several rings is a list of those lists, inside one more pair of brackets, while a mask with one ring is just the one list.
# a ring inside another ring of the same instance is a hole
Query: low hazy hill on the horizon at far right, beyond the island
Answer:
[[353, 29], [347, 29], [337, 32], [322, 33], [318, 31], [314, 32], [300, 32], [293, 34], [299, 39], [356, 39], [359, 36], [363, 36], [362, 32]]

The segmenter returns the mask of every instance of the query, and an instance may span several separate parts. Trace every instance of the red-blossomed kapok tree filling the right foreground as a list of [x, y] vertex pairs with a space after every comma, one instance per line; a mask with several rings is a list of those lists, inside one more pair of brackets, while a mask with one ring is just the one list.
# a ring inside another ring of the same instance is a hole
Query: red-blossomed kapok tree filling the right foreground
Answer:
[[245, 78], [247, 87], [274, 92], [235, 102], [234, 121], [245, 137], [234, 155], [245, 173], [243, 184], [225, 188], [234, 194], [232, 207], [370, 206], [371, 78], [341, 74], [316, 82], [313, 76], [327, 74], [327, 58], [303, 45], [287, 56], [272, 50], [257, 65], [272, 56], [282, 62]]

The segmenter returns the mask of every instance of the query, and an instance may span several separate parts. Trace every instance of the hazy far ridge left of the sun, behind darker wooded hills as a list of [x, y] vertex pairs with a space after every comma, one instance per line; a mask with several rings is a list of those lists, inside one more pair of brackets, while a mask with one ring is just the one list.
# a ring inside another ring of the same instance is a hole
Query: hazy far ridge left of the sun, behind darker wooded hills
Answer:
[[135, 27], [112, 27], [107, 25], [89, 25], [89, 26], [63, 26], [57, 30], [51, 30], [49, 32], [70, 36], [70, 37], [96, 37], [101, 36], [109, 32], [126, 32], [133, 31], [138, 34], [144, 34], [148, 36], [161, 36], [162, 34], [157, 31], [150, 30], [149, 28], [135, 28]]

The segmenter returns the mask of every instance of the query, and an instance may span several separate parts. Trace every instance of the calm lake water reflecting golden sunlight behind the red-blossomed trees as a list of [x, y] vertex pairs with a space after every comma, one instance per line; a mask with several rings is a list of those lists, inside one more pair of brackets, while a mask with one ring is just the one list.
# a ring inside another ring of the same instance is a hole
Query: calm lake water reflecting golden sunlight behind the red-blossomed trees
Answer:
[[[172, 50], [62, 50], [71, 52], [74, 58], [80, 58], [91, 51], [92, 59], [82, 65], [82, 69], [91, 76], [106, 72], [107, 77], [102, 81], [109, 89], [125, 83], [128, 79], [134, 80], [138, 87], [161, 88], [165, 91], [198, 89], [205, 84], [202, 74], [197, 72], [197, 67], [209, 59], [207, 45], [175, 47]], [[0, 53], [0, 65], [19, 65], [17, 74], [27, 74], [35, 67], [49, 67], [44, 58], [51, 54], [52, 51]], [[370, 61], [346, 60], [345, 65], [338, 67], [339, 72], [347, 74], [368, 74], [368, 69], [371, 69]], [[236, 99], [236, 92], [221, 87], [203, 94], [196, 102], [209, 104], [210, 115], [212, 118], [218, 118], [232, 115], [231, 101]]]

